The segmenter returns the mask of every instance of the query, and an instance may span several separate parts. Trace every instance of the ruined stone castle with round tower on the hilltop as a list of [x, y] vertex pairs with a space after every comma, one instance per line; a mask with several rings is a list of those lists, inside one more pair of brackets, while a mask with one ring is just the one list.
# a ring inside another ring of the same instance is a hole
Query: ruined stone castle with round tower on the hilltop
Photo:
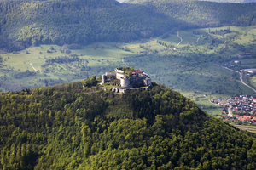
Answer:
[[[118, 80], [118, 81], [115, 81]], [[152, 86], [151, 78], [141, 69], [132, 70], [131, 67], [116, 68], [102, 75], [102, 84], [112, 83], [114, 92], [125, 92], [131, 88], [149, 88]]]

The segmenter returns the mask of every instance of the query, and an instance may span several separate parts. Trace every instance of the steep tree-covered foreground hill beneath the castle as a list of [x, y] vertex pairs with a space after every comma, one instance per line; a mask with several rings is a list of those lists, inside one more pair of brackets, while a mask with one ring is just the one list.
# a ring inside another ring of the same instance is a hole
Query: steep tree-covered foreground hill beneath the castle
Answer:
[[95, 83], [1, 93], [0, 169], [255, 169], [253, 137], [172, 89]]

